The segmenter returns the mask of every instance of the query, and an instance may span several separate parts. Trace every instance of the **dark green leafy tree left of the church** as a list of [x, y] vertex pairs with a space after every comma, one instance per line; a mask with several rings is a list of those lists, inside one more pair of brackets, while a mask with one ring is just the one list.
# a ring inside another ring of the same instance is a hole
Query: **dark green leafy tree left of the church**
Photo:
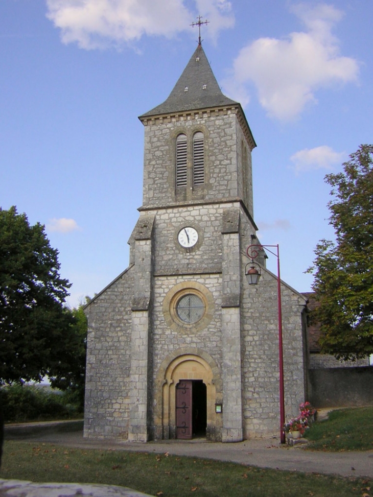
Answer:
[[0, 385], [41, 381], [74, 346], [63, 308], [71, 284], [59, 269], [44, 226], [0, 208]]

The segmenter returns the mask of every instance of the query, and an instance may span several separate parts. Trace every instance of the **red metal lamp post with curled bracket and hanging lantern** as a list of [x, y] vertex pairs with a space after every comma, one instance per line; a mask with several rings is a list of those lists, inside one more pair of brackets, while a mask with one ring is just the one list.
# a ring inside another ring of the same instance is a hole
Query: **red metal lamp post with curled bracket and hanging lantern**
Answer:
[[[270, 250], [270, 248], [273, 249]], [[259, 251], [266, 249], [272, 255], [277, 257], [277, 305], [278, 305], [278, 364], [279, 364], [279, 397], [280, 397], [280, 440], [281, 443], [285, 443], [285, 400], [284, 400], [284, 353], [283, 353], [283, 319], [282, 319], [282, 307], [281, 307], [281, 280], [279, 273], [279, 249], [278, 245], [249, 245], [246, 249], [246, 254], [252, 261], [250, 268], [250, 263], [246, 265], [245, 275], [249, 285], [258, 285], [261, 271], [260, 266], [259, 271], [255, 267], [257, 263], [254, 263], [254, 259], [258, 257]], [[274, 251], [275, 250], [275, 251]]]

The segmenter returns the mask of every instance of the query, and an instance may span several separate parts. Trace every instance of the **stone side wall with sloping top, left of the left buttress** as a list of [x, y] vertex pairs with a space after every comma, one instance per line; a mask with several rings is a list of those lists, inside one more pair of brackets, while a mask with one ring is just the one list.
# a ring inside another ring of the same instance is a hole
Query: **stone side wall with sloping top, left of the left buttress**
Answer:
[[130, 268], [86, 308], [86, 437], [128, 436], [132, 288]]

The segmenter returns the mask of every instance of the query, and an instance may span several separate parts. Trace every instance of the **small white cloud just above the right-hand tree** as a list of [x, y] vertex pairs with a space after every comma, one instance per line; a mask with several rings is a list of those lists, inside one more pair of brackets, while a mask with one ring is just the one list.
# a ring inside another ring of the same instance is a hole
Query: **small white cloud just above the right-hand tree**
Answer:
[[335, 152], [331, 147], [322, 145], [313, 149], [299, 150], [290, 157], [296, 173], [314, 169], [333, 169], [333, 165], [341, 163], [344, 152]]

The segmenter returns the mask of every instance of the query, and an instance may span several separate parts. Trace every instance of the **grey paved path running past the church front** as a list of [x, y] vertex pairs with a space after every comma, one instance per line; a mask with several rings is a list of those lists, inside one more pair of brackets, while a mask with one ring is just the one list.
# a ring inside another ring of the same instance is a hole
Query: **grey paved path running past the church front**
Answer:
[[[62, 431], [63, 429], [67, 429]], [[75, 428], [75, 430], [74, 430]], [[74, 431], [72, 431], [74, 430]], [[154, 452], [179, 456], [191, 456], [221, 461], [231, 461], [262, 468], [274, 468], [291, 471], [316, 472], [320, 474], [336, 474], [344, 477], [368, 477], [373, 479], [373, 451], [368, 452], [313, 452], [304, 450], [304, 446], [289, 447], [281, 445], [278, 439], [252, 439], [240, 443], [207, 442], [206, 440], [168, 440], [148, 443], [129, 443], [118, 441], [86, 440], [83, 438], [81, 424], [63, 426], [56, 423], [30, 424], [19, 426], [17, 429], [8, 427], [6, 439], [13, 438], [23, 441], [53, 443], [75, 448], [99, 448], [116, 451]], [[1, 483], [1, 481], [0, 481]], [[81, 488], [82, 486], [80, 486]], [[1, 490], [1, 484], [0, 484]], [[16, 497], [20, 493], [6, 493]], [[22, 494], [23, 495], [23, 494]], [[52, 494], [25, 494], [26, 497], [58, 497]], [[71, 495], [63, 493], [63, 495]], [[72, 494], [75, 495], [75, 494]], [[99, 493], [79, 495], [95, 495]], [[116, 495], [107, 493], [107, 495]], [[119, 495], [119, 494], [118, 494]], [[140, 495], [138, 493], [123, 493], [121, 495]], [[2, 494], [0, 492], [0, 497]]]

